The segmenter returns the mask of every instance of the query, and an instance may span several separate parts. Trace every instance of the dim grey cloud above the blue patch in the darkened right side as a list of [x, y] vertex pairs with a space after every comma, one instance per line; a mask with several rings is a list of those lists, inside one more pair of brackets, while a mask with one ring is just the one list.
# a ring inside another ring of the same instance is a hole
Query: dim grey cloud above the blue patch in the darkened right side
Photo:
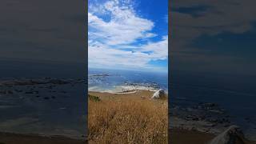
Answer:
[[252, 22], [256, 21], [254, 4], [254, 0], [175, 1], [175, 8], [206, 6], [206, 10], [198, 12], [201, 14], [200, 17], [193, 17], [189, 13], [185, 14], [178, 11], [171, 12], [172, 26], [174, 27], [172, 29], [173, 34], [175, 34], [175, 38], [182, 39], [180, 45], [174, 46], [174, 49], [182, 50], [186, 48], [186, 44], [203, 34], [216, 35], [225, 31], [242, 34], [251, 30]]

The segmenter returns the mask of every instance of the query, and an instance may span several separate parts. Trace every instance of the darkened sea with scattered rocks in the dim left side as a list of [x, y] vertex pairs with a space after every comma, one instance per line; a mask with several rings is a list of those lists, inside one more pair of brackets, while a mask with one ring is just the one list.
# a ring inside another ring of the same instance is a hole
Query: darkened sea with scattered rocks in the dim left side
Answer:
[[86, 135], [86, 65], [0, 61], [0, 131]]

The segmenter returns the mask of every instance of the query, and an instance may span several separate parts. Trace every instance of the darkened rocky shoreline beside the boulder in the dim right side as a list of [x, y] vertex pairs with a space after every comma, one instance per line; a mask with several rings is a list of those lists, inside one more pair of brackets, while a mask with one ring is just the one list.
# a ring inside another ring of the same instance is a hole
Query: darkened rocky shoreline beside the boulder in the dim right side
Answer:
[[199, 102], [198, 105], [187, 107], [174, 104], [169, 106], [169, 129], [197, 130], [218, 135], [236, 125], [226, 110], [215, 103]]

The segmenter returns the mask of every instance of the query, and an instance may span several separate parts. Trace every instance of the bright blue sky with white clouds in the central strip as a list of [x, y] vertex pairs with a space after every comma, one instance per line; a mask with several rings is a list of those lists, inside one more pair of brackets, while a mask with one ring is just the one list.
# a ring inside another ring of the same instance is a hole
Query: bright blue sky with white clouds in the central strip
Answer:
[[89, 68], [168, 69], [168, 1], [89, 0]]

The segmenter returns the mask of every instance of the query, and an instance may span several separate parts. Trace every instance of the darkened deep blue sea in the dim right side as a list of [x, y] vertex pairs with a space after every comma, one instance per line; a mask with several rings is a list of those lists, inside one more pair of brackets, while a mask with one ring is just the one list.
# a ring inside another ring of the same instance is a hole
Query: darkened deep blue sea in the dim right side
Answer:
[[242, 128], [247, 138], [256, 140], [255, 82], [254, 75], [173, 71], [169, 106], [217, 104], [226, 111], [232, 124]]

